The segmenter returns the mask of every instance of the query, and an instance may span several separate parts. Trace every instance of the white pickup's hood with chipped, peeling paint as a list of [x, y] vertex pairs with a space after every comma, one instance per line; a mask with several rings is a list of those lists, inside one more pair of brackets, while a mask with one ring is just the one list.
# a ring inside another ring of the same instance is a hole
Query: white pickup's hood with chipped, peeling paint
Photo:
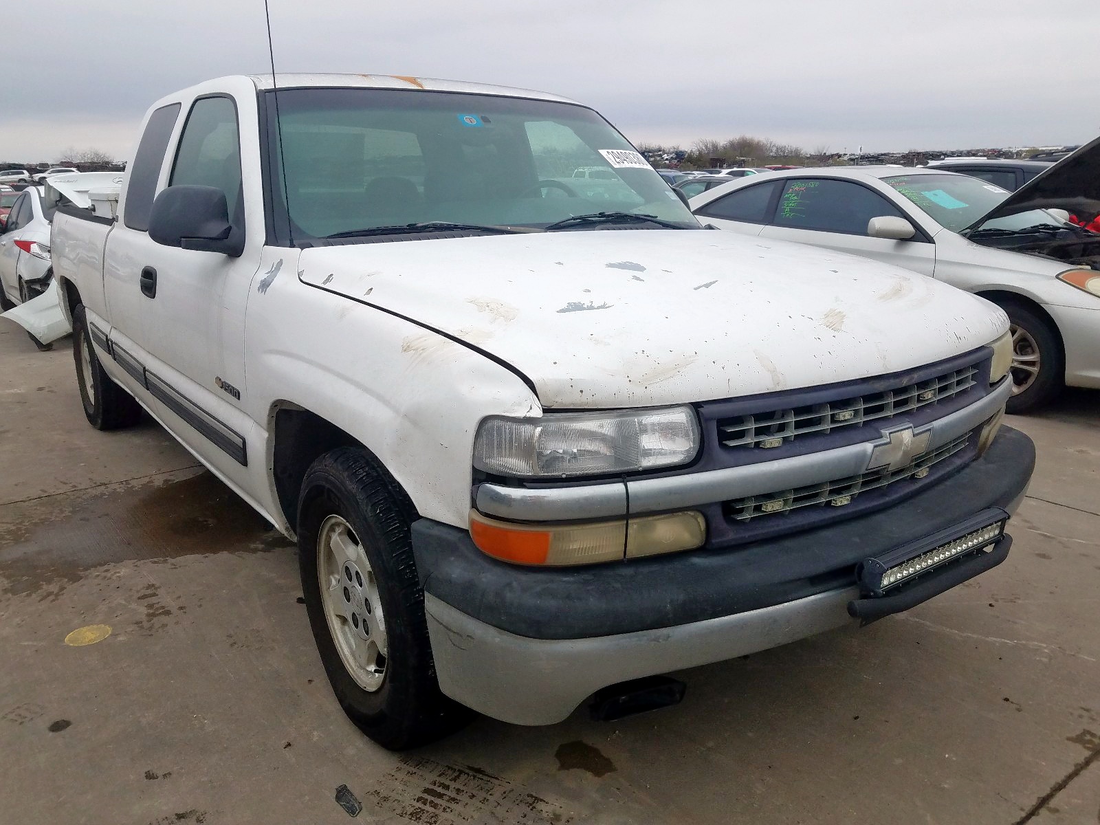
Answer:
[[[520, 371], [543, 407], [703, 402], [928, 364], [1008, 328], [903, 270], [733, 232], [619, 230], [323, 246], [306, 284]], [[402, 350], [438, 344], [410, 328]]]

